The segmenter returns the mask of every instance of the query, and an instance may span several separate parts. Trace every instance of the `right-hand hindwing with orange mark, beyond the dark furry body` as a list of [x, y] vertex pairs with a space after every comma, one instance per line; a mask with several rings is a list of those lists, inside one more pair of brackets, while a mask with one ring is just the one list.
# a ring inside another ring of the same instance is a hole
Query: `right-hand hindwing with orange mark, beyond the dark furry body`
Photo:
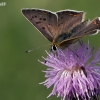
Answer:
[[95, 18], [92, 21], [84, 21], [74, 27], [71, 31], [71, 37], [92, 35], [98, 33], [98, 30], [100, 30], [100, 18]]

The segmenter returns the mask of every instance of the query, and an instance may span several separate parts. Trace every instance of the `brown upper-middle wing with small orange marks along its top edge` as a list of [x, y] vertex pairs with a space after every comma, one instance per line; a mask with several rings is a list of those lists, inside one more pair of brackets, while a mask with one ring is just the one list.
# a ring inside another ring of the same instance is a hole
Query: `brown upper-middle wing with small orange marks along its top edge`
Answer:
[[56, 13], [58, 15], [58, 29], [60, 33], [69, 32], [73, 27], [83, 20], [84, 12], [64, 10]]

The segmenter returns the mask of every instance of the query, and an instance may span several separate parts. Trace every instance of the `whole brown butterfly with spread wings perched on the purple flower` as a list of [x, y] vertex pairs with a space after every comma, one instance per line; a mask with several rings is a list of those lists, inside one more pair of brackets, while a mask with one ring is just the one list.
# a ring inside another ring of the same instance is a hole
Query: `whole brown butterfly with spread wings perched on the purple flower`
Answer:
[[32, 8], [22, 9], [22, 14], [52, 43], [52, 50], [67, 48], [80, 38], [100, 30], [100, 17], [84, 21], [83, 11], [51, 12]]

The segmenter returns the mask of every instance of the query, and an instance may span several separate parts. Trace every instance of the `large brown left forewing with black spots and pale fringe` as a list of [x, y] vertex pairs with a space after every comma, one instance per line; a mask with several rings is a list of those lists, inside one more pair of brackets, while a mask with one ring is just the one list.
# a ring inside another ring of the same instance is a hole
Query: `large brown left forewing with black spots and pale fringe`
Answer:
[[22, 9], [23, 15], [44, 35], [50, 42], [53, 41], [57, 28], [56, 14], [41, 9]]

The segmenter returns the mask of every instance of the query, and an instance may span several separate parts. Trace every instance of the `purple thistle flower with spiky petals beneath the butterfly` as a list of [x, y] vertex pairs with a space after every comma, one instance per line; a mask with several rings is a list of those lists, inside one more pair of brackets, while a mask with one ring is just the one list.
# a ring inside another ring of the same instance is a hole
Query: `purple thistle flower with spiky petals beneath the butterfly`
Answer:
[[[72, 51], [73, 50], [73, 51]], [[88, 44], [78, 43], [70, 49], [58, 49], [56, 53], [48, 53], [41, 62], [48, 68], [44, 84], [52, 85], [51, 95], [62, 100], [98, 100], [100, 94], [100, 49], [94, 54], [94, 48]]]

